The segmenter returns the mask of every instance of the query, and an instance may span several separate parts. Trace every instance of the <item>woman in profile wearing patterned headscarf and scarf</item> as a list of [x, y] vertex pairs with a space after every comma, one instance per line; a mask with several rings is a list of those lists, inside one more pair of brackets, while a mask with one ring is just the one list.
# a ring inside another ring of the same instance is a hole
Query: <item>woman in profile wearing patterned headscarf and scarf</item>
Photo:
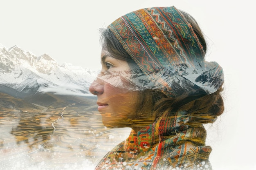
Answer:
[[96, 169], [211, 169], [206, 130], [223, 113], [222, 68], [207, 62], [196, 21], [175, 7], [128, 13], [102, 31], [102, 70], [90, 86], [103, 124], [129, 137]]

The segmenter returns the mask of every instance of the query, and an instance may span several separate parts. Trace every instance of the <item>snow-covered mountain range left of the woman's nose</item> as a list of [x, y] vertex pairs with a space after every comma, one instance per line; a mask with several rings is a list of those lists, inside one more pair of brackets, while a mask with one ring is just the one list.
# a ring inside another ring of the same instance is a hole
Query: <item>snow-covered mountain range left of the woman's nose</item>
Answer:
[[89, 95], [96, 71], [72, 64], [59, 65], [47, 54], [39, 57], [18, 46], [0, 44], [0, 92], [29, 95], [53, 92], [59, 95]]

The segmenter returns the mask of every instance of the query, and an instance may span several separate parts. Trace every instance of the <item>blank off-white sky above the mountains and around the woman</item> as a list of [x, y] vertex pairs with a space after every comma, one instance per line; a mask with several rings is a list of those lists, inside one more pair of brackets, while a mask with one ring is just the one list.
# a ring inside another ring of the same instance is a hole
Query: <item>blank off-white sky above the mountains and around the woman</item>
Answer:
[[225, 71], [226, 110], [207, 138], [213, 168], [256, 170], [255, 9], [249, 0], [1, 0], [0, 43], [99, 70], [100, 27], [130, 11], [172, 5], [198, 21], [209, 44], [207, 60]]

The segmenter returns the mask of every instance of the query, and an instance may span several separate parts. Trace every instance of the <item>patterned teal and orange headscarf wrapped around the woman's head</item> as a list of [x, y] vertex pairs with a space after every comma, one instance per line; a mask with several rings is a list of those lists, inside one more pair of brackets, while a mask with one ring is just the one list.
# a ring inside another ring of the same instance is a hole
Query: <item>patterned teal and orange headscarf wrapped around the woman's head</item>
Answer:
[[133, 11], [108, 29], [148, 76], [150, 83], [140, 84], [141, 88], [150, 86], [175, 98], [184, 93], [214, 93], [224, 81], [222, 68], [204, 60], [191, 24], [175, 7]]

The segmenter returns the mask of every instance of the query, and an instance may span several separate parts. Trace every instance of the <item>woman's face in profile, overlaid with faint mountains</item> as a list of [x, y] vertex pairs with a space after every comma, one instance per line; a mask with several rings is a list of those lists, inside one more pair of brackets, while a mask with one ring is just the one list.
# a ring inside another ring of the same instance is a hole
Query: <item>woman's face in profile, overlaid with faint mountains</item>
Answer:
[[91, 84], [90, 92], [98, 97], [103, 124], [110, 128], [131, 127], [131, 120], [137, 119], [137, 92], [131, 91], [128, 63], [102, 51], [101, 66], [101, 73]]

